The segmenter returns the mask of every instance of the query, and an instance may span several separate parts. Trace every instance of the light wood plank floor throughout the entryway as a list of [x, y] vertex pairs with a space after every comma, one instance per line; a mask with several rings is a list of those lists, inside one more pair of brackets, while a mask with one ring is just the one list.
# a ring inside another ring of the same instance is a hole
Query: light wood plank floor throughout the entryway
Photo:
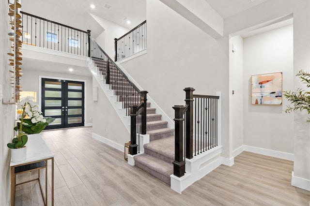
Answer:
[[[128, 165], [123, 152], [93, 139], [91, 131], [85, 127], [42, 132], [55, 155], [56, 206], [310, 205], [310, 191], [291, 185], [291, 161], [242, 152], [233, 166], [219, 166], [178, 194]], [[36, 175], [26, 173], [18, 178]], [[50, 177], [48, 180], [50, 195]], [[16, 188], [16, 206], [42, 205], [37, 181]]]

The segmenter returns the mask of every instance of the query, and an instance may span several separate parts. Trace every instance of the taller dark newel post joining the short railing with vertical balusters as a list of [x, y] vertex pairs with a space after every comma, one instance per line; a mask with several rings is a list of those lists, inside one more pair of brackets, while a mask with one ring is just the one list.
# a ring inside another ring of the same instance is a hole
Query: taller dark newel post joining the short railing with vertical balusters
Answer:
[[188, 105], [188, 109], [186, 111], [186, 158], [192, 159], [193, 158], [193, 91], [194, 88], [185, 88], [184, 91], [186, 92], [185, 102]]

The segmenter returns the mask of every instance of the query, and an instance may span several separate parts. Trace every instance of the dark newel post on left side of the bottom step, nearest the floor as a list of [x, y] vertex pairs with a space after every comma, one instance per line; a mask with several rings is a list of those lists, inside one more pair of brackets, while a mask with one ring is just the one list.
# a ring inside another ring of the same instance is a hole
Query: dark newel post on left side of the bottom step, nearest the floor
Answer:
[[130, 105], [130, 145], [129, 154], [136, 155], [138, 153], [137, 145], [137, 105]]

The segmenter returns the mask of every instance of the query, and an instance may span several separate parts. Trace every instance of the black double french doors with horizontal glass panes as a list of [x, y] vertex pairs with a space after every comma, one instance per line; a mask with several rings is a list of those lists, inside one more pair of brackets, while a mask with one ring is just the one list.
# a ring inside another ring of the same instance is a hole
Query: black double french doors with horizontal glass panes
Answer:
[[42, 78], [44, 117], [56, 118], [46, 129], [84, 126], [84, 82]]

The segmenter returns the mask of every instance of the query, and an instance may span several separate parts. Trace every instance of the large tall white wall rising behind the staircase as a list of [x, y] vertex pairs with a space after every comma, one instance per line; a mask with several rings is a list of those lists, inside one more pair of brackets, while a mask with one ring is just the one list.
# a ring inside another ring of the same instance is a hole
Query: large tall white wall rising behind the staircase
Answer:
[[195, 94], [222, 95], [222, 144], [228, 154], [228, 39], [215, 40], [157, 0], [147, 0], [147, 53], [122, 63], [126, 71], [171, 118], [185, 104], [186, 87]]

